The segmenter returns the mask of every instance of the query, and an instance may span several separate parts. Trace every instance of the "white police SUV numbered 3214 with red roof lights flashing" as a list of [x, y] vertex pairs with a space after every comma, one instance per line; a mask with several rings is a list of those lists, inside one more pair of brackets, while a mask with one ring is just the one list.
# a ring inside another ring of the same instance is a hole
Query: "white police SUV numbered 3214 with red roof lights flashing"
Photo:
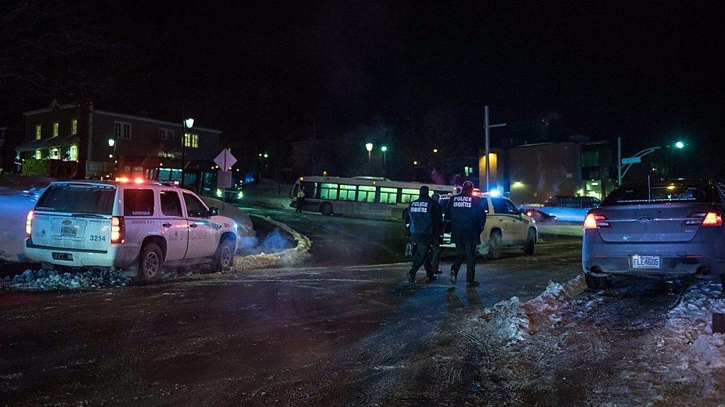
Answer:
[[112, 267], [152, 282], [165, 266], [231, 267], [237, 231], [189, 190], [122, 177], [51, 182], [25, 233], [25, 256], [44, 267]]

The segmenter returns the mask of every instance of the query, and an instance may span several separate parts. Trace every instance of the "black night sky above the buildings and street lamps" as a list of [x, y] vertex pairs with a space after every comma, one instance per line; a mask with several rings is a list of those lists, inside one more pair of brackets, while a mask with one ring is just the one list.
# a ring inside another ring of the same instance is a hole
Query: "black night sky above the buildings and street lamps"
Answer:
[[552, 140], [631, 148], [715, 143], [724, 128], [722, 1], [92, 4], [119, 45], [96, 72], [116, 88], [96, 104], [191, 114], [242, 148], [313, 125], [319, 138], [382, 127], [402, 144], [437, 114], [474, 154], [485, 104], [493, 122], [548, 118]]

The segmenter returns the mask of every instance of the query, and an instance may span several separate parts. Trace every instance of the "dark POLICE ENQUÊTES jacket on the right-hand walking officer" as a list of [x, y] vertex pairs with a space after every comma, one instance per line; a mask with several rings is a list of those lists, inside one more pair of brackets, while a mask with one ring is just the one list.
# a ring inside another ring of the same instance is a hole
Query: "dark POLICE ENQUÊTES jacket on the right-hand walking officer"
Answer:
[[446, 219], [451, 222], [451, 243], [481, 244], [486, 211], [478, 196], [459, 193], [448, 200]]

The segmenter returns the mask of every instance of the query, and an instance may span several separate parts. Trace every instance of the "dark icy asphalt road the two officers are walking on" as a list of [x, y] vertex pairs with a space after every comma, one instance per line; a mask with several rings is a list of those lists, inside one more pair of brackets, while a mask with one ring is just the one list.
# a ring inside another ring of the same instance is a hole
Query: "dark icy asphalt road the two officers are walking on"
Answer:
[[[339, 225], [307, 215], [289, 222], [303, 232], [341, 231], [313, 236], [314, 267], [85, 293], [0, 293], [0, 400], [9, 406], [385, 405], [405, 393], [397, 386], [406, 383], [399, 380], [405, 366], [435, 352], [429, 341], [450, 335], [463, 310], [512, 295], [531, 298], [549, 280], [579, 273], [579, 242], [561, 239], [534, 256], [512, 252], [481, 262], [476, 290], [440, 280], [410, 288], [402, 283], [407, 264], [343, 265], [378, 248], [369, 239], [378, 225], [352, 220]], [[378, 223], [382, 235], [399, 239], [399, 223]], [[354, 242], [345, 238], [352, 235]], [[323, 244], [334, 241], [341, 247]], [[379, 256], [391, 259], [393, 251], [387, 253]]]

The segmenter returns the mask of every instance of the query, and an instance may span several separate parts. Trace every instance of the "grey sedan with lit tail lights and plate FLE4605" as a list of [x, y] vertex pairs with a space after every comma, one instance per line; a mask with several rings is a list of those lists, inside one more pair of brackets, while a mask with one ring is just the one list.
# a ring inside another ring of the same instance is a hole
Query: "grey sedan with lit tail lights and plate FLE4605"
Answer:
[[623, 185], [584, 220], [581, 266], [590, 288], [615, 274], [720, 277], [725, 284], [725, 187], [712, 180]]

